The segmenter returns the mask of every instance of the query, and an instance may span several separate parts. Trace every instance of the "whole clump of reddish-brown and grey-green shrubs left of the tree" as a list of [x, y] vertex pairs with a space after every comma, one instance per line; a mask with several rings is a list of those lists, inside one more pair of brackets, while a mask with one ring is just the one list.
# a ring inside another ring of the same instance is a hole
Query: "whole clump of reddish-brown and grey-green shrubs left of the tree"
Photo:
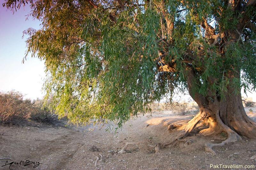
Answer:
[[58, 118], [44, 100], [24, 99], [20, 92], [0, 92], [0, 123], [17, 122], [21, 120], [33, 120], [36, 122], [52, 123]]

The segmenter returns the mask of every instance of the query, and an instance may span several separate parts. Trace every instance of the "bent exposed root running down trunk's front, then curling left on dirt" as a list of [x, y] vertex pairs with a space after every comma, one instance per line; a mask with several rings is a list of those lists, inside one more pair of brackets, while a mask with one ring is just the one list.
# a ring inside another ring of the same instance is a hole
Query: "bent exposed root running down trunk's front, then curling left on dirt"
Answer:
[[234, 132], [232, 129], [230, 129], [227, 125], [225, 125], [222, 122], [222, 120], [220, 119], [219, 111], [218, 111], [218, 113], [215, 114], [215, 116], [216, 116], [216, 121], [218, 122], [218, 125], [219, 125], [220, 129], [222, 129], [223, 131], [225, 131], [228, 134], [228, 138], [226, 140], [222, 141], [220, 144], [208, 143], [208, 144], [204, 145], [205, 152], [210, 152], [213, 155], [216, 155], [216, 152], [214, 152], [212, 150], [212, 147], [223, 146], [224, 144], [234, 143], [237, 140], [241, 140], [242, 139], [236, 132]]

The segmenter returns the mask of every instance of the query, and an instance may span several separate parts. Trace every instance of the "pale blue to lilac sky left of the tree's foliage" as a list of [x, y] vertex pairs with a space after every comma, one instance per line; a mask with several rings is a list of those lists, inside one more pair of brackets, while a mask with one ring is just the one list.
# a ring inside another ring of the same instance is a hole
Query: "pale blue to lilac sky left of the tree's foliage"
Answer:
[[13, 14], [3, 3], [4, 0], [0, 0], [0, 91], [16, 90], [32, 100], [42, 98], [44, 61], [28, 56], [22, 63], [28, 38], [22, 39], [22, 32], [29, 27], [39, 29], [40, 22], [32, 18], [26, 21], [29, 7], [20, 7]]

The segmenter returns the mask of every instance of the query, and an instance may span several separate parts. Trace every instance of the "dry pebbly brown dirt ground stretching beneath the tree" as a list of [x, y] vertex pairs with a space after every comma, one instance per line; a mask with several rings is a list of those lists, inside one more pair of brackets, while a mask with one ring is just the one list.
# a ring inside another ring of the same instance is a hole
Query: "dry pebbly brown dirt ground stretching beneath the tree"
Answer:
[[[252, 108], [252, 107], [251, 107]], [[246, 108], [249, 113], [250, 108]], [[256, 121], [254, 113], [248, 114]], [[217, 155], [204, 152], [205, 143], [220, 143], [225, 135], [202, 137], [195, 134], [187, 137], [192, 144], [168, 146], [158, 153], [147, 144], [129, 145], [129, 153], [117, 153], [126, 142], [147, 141], [151, 144], [167, 142], [168, 132], [165, 120], [179, 122], [193, 115], [174, 115], [164, 111], [151, 115], [139, 115], [126, 122], [122, 129], [108, 132], [105, 127], [75, 126], [1, 126], [0, 127], [0, 169], [210, 169], [213, 165], [255, 165], [250, 159], [256, 154], [256, 140], [243, 137], [234, 144], [216, 147]], [[148, 125], [148, 126], [147, 126]], [[92, 131], [92, 129], [94, 130]], [[200, 128], [199, 126], [197, 128]], [[102, 159], [97, 161], [96, 157]], [[3, 159], [9, 158], [9, 159]], [[31, 163], [30, 165], [26, 165]], [[6, 165], [6, 163], [12, 165]], [[20, 162], [23, 161], [23, 162]], [[38, 165], [38, 162], [40, 163]], [[35, 168], [33, 166], [36, 166]]]

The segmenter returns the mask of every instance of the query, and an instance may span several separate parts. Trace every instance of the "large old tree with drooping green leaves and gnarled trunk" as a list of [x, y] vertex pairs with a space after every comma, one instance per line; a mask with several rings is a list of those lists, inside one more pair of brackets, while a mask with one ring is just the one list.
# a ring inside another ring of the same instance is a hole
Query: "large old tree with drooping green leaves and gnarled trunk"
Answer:
[[[45, 62], [47, 96], [72, 122], [118, 120], [188, 90], [200, 112], [174, 141], [208, 120], [211, 135], [256, 137], [241, 89], [255, 90], [256, 0], [7, 0], [29, 4], [41, 29], [24, 33], [28, 54]], [[26, 55], [26, 56], [27, 56]], [[172, 98], [170, 98], [172, 101]], [[238, 135], [239, 134], [239, 135]], [[172, 141], [171, 143], [173, 143]], [[163, 148], [168, 144], [158, 144]]]

